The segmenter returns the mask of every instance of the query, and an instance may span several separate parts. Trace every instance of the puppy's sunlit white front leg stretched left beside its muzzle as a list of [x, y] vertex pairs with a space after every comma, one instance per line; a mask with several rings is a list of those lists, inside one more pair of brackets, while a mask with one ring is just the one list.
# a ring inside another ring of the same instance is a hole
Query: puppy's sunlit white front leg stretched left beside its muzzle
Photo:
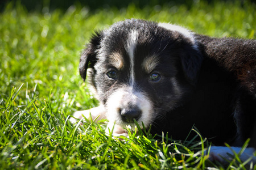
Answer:
[[84, 116], [85, 118], [87, 118], [88, 120], [90, 120], [90, 117], [92, 116], [92, 121], [96, 118], [96, 122], [98, 120], [102, 120], [103, 118], [105, 118], [105, 114], [106, 111], [104, 109], [103, 105], [100, 105], [98, 107], [92, 108], [92, 109], [88, 109], [88, 110], [84, 110], [84, 111], [77, 111], [73, 114], [73, 117], [70, 118], [70, 121], [74, 124], [75, 122], [77, 122], [77, 119], [81, 120], [81, 118]]

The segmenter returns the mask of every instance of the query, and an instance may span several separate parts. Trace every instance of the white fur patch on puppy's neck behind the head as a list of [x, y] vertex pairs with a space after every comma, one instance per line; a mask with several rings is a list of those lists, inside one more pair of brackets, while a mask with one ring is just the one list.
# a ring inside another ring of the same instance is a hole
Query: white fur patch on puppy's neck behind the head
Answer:
[[197, 46], [197, 41], [195, 39], [193, 32], [189, 31], [186, 28], [180, 27], [178, 25], [173, 25], [173, 24], [169, 24], [169, 23], [159, 23], [158, 25], [160, 27], [166, 28], [170, 31], [177, 31], [177, 32], [181, 33], [181, 35], [183, 35], [184, 37], [187, 37], [189, 40], [191, 40], [191, 42], [193, 43], [194, 49], [199, 50], [198, 46]]

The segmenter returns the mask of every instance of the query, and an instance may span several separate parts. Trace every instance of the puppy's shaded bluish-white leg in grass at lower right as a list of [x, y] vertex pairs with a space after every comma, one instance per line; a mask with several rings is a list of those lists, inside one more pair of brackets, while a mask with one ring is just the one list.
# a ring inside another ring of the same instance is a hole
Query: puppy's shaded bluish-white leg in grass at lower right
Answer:
[[[222, 146], [212, 146], [210, 147], [209, 159], [218, 162], [225, 163], [226, 160], [233, 160], [231, 155], [234, 155], [232, 152], [236, 152], [237, 154], [241, 151], [241, 147], [222, 147]], [[252, 162], [256, 163], [256, 156], [254, 156], [255, 149], [252, 147], [245, 148], [245, 151], [239, 156], [242, 162], [245, 162], [247, 159], [252, 158]], [[226, 160], [225, 160], [226, 159]], [[250, 161], [250, 162], [251, 162]]]

